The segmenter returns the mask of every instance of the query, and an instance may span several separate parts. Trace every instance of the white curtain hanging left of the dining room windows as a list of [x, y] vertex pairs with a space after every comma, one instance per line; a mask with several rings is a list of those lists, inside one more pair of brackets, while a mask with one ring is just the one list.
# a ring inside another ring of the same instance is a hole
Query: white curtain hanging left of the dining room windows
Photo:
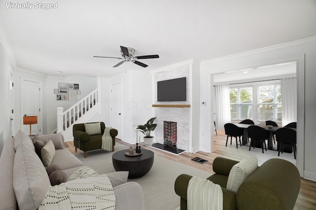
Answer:
[[215, 86], [215, 123], [216, 129], [224, 130], [224, 125], [231, 122], [229, 85]]

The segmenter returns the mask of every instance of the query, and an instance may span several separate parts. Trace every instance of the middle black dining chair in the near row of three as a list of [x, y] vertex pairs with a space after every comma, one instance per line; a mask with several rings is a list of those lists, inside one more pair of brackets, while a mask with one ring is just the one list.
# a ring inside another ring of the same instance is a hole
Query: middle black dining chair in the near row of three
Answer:
[[255, 126], [255, 125], [249, 126], [247, 128], [247, 131], [248, 131], [248, 137], [250, 138], [249, 151], [250, 151], [251, 145], [253, 145], [253, 148], [255, 148], [256, 141], [261, 142], [262, 153], [264, 153], [263, 145], [265, 145], [265, 149], [267, 151], [266, 140], [269, 139], [270, 131], [266, 130], [263, 127]]

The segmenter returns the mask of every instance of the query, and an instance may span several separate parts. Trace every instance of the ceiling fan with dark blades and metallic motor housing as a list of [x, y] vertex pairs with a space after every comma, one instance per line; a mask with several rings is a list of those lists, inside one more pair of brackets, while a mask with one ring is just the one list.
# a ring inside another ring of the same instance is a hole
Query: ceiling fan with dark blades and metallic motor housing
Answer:
[[132, 62], [135, 63], [139, 66], [142, 67], [147, 67], [148, 65], [139, 62], [138, 59], [149, 59], [149, 58], [159, 58], [159, 55], [142, 55], [142, 56], [135, 56], [134, 57], [134, 53], [135, 53], [135, 49], [131, 48], [131, 47], [125, 47], [125, 46], [120, 46], [120, 52], [122, 54], [122, 58], [118, 58], [118, 57], [107, 57], [107, 56], [93, 56], [95, 58], [116, 58], [116, 59], [121, 59], [122, 61], [119, 62], [117, 65], [113, 66], [113, 67], [118, 67], [119, 65], [121, 65], [124, 62]]

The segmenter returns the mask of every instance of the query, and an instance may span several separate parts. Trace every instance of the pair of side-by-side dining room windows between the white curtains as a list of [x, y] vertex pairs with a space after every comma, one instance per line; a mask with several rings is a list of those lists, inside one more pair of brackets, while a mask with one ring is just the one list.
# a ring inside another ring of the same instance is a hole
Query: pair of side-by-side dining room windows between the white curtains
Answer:
[[230, 88], [232, 120], [282, 122], [281, 85], [254, 84]]

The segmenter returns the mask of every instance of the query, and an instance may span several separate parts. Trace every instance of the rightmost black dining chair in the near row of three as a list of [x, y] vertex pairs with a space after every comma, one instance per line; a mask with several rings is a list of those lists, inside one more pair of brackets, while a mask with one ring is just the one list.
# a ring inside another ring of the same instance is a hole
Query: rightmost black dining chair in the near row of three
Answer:
[[288, 144], [293, 147], [294, 159], [296, 159], [296, 130], [290, 127], [281, 127], [276, 130], [276, 141], [280, 143], [278, 145], [278, 154], [280, 156], [280, 152], [283, 154], [284, 145]]

